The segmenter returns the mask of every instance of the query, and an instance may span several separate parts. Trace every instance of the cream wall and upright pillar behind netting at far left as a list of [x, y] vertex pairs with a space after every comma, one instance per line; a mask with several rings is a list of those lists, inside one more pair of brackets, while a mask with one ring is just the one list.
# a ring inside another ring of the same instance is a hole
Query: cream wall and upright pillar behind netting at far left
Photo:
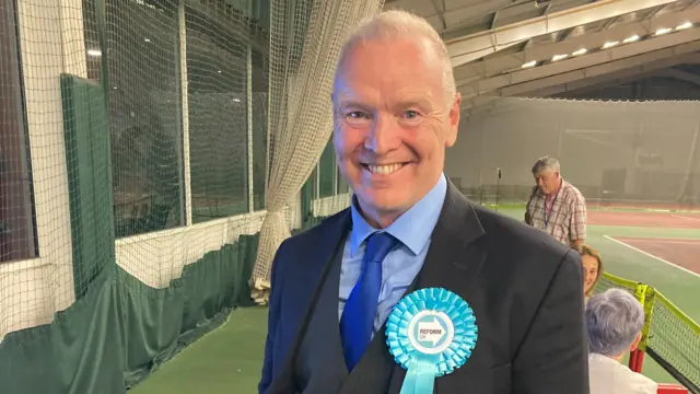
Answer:
[[0, 265], [0, 338], [74, 301], [59, 76], [86, 71], [81, 1], [62, 3], [18, 2], [39, 257]]

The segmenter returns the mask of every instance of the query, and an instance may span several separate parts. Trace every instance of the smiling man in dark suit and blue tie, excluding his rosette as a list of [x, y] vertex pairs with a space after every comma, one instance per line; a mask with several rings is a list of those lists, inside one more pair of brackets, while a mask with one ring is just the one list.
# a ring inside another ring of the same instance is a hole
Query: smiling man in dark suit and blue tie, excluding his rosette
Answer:
[[406, 371], [387, 348], [387, 316], [404, 296], [442, 288], [469, 303], [479, 337], [434, 390], [588, 393], [580, 257], [470, 202], [443, 174], [460, 96], [430, 24], [400, 11], [362, 24], [331, 100], [354, 196], [278, 250], [259, 392], [398, 394]]

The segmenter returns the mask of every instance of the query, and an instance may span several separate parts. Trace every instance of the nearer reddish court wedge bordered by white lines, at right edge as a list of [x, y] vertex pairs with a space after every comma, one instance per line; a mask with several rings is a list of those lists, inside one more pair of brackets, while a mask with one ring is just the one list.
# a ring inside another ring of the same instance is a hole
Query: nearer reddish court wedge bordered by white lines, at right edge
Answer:
[[638, 252], [685, 268], [700, 276], [700, 240], [611, 237]]

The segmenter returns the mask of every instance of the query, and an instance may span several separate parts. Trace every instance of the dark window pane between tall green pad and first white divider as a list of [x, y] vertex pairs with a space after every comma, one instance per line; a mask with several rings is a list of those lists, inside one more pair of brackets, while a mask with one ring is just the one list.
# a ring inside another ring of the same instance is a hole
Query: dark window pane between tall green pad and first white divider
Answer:
[[116, 235], [183, 225], [177, 3], [106, 0], [105, 12]]

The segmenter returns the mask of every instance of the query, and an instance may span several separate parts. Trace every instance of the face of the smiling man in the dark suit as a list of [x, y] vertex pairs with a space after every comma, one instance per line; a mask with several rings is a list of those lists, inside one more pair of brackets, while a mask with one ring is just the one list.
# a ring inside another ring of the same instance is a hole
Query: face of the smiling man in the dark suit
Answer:
[[390, 223], [438, 182], [445, 148], [457, 137], [460, 100], [445, 100], [441, 63], [422, 40], [361, 43], [339, 67], [338, 166], [365, 216], [376, 221], [394, 216]]

